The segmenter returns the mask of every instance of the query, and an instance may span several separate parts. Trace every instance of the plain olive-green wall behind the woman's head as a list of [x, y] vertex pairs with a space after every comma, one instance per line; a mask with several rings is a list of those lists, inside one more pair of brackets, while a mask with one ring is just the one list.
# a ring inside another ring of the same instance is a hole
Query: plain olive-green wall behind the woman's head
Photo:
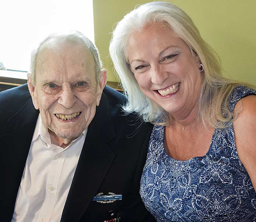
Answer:
[[[167, 0], [168, 1], [168, 0]], [[93, 0], [95, 43], [108, 80], [116, 81], [109, 56], [113, 25], [137, 4], [149, 1]], [[172, 0], [220, 56], [224, 75], [256, 85], [256, 0]]]

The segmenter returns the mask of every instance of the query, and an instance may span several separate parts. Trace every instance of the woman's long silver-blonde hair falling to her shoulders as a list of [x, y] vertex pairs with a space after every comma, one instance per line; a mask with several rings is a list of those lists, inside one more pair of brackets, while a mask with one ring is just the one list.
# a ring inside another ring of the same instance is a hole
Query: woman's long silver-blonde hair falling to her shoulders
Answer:
[[150, 101], [140, 90], [126, 57], [129, 36], [140, 31], [147, 24], [166, 24], [189, 46], [191, 53], [197, 55], [203, 64], [203, 80], [199, 97], [198, 117], [203, 124], [223, 128], [233, 118], [228, 110], [228, 100], [235, 86], [241, 83], [224, 78], [216, 53], [202, 39], [192, 19], [180, 8], [163, 1], [143, 4], [129, 12], [117, 23], [110, 42], [110, 56], [113, 60], [128, 103], [123, 107], [127, 113], [137, 112], [146, 122], [163, 120], [168, 125], [170, 119], [166, 111]]

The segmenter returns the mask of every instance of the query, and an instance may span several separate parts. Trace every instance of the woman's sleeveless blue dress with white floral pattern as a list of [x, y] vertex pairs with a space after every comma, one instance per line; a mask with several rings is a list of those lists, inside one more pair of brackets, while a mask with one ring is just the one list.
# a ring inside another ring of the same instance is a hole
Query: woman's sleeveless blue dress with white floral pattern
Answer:
[[[229, 108], [256, 94], [237, 86]], [[158, 222], [256, 222], [256, 193], [239, 160], [234, 129], [215, 129], [203, 157], [180, 161], [164, 150], [164, 126], [155, 125], [141, 178], [141, 197]]]

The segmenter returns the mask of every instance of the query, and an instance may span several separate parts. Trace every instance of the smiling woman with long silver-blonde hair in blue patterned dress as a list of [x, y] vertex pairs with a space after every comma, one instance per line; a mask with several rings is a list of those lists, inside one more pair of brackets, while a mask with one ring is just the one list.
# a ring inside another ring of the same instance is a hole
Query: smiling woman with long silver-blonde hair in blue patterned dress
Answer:
[[116, 26], [110, 55], [127, 113], [154, 124], [141, 197], [157, 221], [256, 221], [256, 91], [224, 78], [191, 18], [143, 4]]

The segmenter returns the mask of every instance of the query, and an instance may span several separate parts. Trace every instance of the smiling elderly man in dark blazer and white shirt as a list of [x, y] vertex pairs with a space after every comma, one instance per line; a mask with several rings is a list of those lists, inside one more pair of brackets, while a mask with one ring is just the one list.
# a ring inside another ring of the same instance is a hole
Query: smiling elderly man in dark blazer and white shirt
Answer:
[[151, 126], [106, 75], [82, 33], [52, 34], [28, 85], [0, 93], [1, 222], [154, 221], [139, 196]]

